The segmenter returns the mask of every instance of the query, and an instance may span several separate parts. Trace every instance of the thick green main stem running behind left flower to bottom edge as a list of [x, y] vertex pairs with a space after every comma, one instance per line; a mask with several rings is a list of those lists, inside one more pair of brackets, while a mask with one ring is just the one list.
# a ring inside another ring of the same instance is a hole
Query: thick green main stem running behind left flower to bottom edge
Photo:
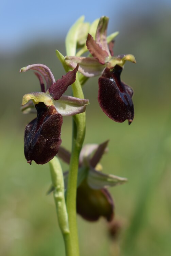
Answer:
[[[72, 86], [73, 96], [84, 98], [79, 80], [76, 79]], [[85, 137], [85, 112], [74, 116], [72, 132], [72, 152], [69, 167], [68, 186], [67, 186], [67, 212], [69, 222], [69, 240], [71, 243], [72, 256], [79, 256], [78, 231], [76, 223], [76, 189], [79, 167], [79, 155]]]

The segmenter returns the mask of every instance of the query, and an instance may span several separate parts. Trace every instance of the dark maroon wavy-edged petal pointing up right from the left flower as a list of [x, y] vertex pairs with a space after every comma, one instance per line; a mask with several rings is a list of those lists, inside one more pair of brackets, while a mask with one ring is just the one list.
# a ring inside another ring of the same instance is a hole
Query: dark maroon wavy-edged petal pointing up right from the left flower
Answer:
[[61, 79], [58, 79], [56, 83], [51, 85], [49, 88], [49, 93], [54, 100], [58, 100], [65, 93], [68, 86], [75, 82], [78, 68], [79, 64], [77, 64], [75, 69], [69, 71], [66, 75], [63, 75]]

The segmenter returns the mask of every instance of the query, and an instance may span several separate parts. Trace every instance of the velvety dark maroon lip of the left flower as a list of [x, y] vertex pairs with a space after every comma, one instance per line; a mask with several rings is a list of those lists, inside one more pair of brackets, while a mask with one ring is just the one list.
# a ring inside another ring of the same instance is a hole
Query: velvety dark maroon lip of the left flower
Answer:
[[37, 118], [32, 120], [25, 128], [24, 154], [31, 164], [50, 161], [58, 152], [61, 145], [62, 115], [57, 113], [53, 105], [47, 107], [39, 102], [35, 105]]

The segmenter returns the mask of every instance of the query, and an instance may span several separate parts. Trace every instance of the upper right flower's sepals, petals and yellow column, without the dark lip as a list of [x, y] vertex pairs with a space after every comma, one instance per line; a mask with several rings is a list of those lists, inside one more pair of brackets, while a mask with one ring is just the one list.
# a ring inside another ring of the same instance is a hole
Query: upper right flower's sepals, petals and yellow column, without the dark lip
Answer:
[[132, 54], [123, 54], [114, 56], [113, 38], [118, 34], [114, 33], [109, 37], [111, 40], [108, 43], [107, 39], [107, 26], [109, 18], [102, 16], [99, 20], [95, 40], [92, 35], [88, 33], [86, 46], [91, 56], [66, 56], [65, 62], [68, 66], [75, 68], [79, 63], [79, 72], [84, 76], [92, 77], [101, 75], [104, 69], [107, 67], [113, 69], [116, 65], [124, 66], [126, 60], [136, 63], [135, 57]]

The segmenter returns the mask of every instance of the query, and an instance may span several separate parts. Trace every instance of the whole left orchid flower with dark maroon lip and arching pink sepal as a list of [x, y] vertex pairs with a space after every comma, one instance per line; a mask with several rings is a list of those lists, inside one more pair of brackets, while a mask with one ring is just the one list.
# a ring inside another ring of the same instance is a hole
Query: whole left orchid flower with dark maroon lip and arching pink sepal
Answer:
[[56, 82], [50, 69], [42, 64], [29, 65], [20, 69], [20, 72], [30, 69], [39, 72], [35, 74], [40, 81], [41, 92], [25, 94], [22, 99], [23, 113], [37, 110], [37, 118], [25, 128], [24, 154], [28, 163], [31, 164], [34, 160], [38, 164], [44, 164], [57, 154], [61, 145], [62, 116], [84, 112], [88, 100], [63, 96], [68, 86], [75, 82], [78, 66]]

